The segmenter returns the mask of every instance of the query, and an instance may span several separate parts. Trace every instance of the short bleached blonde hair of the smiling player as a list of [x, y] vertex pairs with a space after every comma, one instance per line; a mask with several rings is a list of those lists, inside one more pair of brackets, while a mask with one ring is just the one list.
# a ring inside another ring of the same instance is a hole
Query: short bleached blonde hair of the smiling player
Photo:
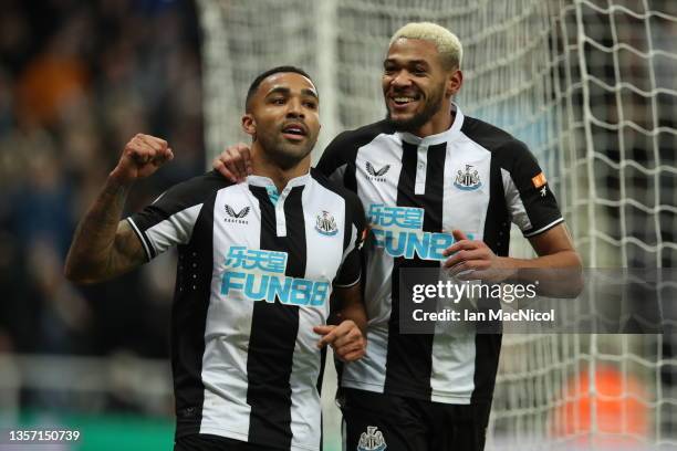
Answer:
[[460, 69], [464, 46], [456, 34], [433, 22], [409, 22], [393, 34], [388, 46], [398, 39], [419, 39], [435, 44], [446, 69]]

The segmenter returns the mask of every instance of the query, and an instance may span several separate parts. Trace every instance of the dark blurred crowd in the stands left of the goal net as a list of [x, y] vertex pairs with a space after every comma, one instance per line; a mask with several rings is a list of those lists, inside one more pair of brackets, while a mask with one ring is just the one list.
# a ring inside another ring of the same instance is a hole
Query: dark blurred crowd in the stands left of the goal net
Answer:
[[165, 357], [173, 255], [74, 287], [77, 218], [124, 144], [165, 137], [176, 159], [135, 187], [138, 209], [205, 168], [195, 7], [171, 0], [0, 3], [0, 336], [17, 352]]

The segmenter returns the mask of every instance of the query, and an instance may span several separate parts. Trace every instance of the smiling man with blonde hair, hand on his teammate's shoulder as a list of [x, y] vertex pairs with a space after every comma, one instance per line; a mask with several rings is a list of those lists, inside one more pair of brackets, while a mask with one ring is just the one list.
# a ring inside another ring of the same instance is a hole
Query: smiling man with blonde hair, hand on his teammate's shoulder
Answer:
[[[371, 226], [364, 247], [367, 353], [346, 364], [340, 380], [346, 450], [485, 447], [501, 336], [402, 333], [403, 306], [412, 300], [400, 300], [400, 270], [442, 266], [497, 283], [522, 268], [581, 268], [527, 146], [452, 103], [461, 63], [460, 41], [445, 28], [423, 22], [399, 29], [383, 63], [387, 117], [340, 134], [317, 165], [357, 193]], [[231, 147], [215, 168], [238, 178], [247, 155]], [[511, 222], [538, 258], [508, 256]], [[447, 249], [405, 251], [426, 234]], [[571, 294], [576, 290], [572, 284]]]

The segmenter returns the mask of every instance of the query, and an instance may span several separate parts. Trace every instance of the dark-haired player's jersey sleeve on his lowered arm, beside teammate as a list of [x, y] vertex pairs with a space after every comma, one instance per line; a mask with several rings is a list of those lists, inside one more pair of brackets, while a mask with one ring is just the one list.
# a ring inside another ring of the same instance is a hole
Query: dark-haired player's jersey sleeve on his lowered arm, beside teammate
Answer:
[[364, 209], [357, 196], [346, 196], [346, 221], [344, 234], [344, 251], [334, 286], [353, 286], [362, 276], [362, 244], [366, 234], [366, 220]]

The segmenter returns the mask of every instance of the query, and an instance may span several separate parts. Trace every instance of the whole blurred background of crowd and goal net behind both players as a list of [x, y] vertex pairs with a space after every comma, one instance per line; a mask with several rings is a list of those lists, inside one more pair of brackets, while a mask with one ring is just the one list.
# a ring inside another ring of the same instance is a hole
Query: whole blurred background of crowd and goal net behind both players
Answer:
[[[322, 144], [381, 118], [381, 60], [409, 20], [459, 34], [460, 106], [530, 145], [586, 266], [674, 266], [676, 17], [670, 0], [2, 1], [0, 428], [77, 429], [74, 450], [169, 449], [175, 258], [73, 286], [77, 219], [135, 133], [176, 159], [128, 211], [244, 139], [244, 91], [274, 64], [315, 77]], [[670, 449], [673, 356], [671, 335], [508, 336], [489, 447]], [[330, 377], [329, 451], [331, 392]]]

